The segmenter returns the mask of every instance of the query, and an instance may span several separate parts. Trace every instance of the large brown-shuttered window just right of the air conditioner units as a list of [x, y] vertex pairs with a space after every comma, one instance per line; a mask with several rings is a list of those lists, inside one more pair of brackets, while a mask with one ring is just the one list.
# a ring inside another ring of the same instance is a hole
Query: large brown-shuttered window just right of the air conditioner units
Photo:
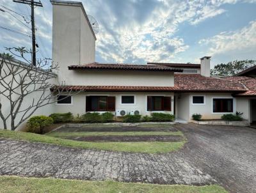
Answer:
[[172, 111], [172, 97], [170, 96], [148, 96], [147, 111]]

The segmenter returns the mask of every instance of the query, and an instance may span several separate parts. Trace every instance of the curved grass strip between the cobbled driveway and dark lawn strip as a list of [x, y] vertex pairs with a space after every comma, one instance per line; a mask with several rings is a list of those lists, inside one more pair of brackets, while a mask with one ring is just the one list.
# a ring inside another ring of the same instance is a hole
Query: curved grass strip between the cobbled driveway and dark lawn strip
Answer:
[[76, 148], [92, 148], [99, 150], [126, 151], [137, 153], [167, 153], [179, 150], [186, 141], [179, 142], [86, 142], [61, 139], [47, 135], [31, 134], [26, 132], [16, 132], [11, 130], [0, 130], [0, 137], [12, 138], [17, 140], [58, 144]]

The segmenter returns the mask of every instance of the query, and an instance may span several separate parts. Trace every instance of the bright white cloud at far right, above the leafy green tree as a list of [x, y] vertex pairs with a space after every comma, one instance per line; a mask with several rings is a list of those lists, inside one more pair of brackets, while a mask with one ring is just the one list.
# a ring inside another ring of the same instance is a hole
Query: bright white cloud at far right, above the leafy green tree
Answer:
[[256, 20], [248, 26], [236, 31], [226, 31], [211, 38], [200, 40], [198, 43], [209, 47], [208, 53], [211, 56], [223, 53], [236, 53], [253, 50], [256, 52]]

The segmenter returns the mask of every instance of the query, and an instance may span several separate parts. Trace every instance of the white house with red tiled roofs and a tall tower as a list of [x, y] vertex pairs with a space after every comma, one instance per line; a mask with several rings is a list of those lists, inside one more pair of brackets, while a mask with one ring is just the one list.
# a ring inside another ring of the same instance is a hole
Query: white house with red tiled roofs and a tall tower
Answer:
[[97, 63], [97, 39], [83, 4], [51, 3], [52, 59], [60, 66], [54, 72], [56, 82], [65, 82], [68, 91], [81, 90], [64, 100], [59, 96], [56, 104], [49, 105], [51, 112], [111, 111], [116, 116], [164, 112], [189, 121], [194, 113], [202, 114], [203, 119], [218, 119], [239, 111], [245, 120], [256, 121], [254, 77], [211, 77], [209, 56], [201, 58], [200, 64]]

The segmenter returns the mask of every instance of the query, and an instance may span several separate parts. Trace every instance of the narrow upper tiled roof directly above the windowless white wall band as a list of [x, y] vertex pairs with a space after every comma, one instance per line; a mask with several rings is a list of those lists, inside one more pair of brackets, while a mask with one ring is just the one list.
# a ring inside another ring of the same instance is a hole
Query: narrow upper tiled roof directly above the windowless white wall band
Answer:
[[109, 64], [109, 63], [89, 63], [85, 65], [71, 65], [68, 70], [86, 70], [86, 69], [101, 69], [101, 70], [152, 70], [152, 71], [168, 71], [182, 72], [183, 70], [170, 68], [168, 66], [158, 65], [131, 65], [131, 64]]

